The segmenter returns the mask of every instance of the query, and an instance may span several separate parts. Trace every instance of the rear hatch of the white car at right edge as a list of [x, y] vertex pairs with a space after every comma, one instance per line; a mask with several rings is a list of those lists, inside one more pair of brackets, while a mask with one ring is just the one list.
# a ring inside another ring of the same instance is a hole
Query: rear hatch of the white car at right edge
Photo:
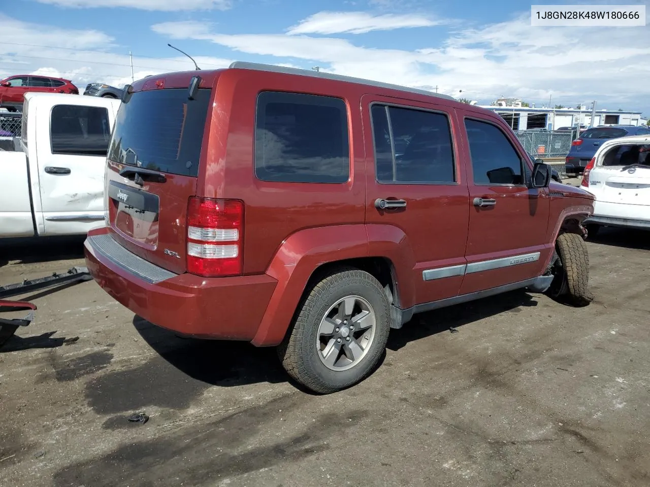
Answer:
[[[620, 145], [608, 151], [599, 164], [591, 169], [590, 191], [598, 201], [650, 205], [650, 153], [639, 153], [637, 147]], [[650, 145], [647, 147], [650, 148]]]

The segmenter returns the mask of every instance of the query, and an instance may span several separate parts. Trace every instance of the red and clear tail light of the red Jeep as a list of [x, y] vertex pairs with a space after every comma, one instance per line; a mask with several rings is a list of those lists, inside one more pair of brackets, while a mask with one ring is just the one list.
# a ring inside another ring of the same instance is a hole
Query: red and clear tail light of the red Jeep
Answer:
[[187, 207], [187, 270], [203, 277], [242, 273], [244, 203], [191, 197]]

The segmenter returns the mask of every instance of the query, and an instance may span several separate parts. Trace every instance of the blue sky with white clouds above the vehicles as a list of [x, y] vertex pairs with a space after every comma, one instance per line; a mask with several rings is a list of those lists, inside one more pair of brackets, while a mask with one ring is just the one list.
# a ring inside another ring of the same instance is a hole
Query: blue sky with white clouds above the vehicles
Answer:
[[[536, 5], [646, 5], [546, 0]], [[279, 64], [391, 82], [489, 105], [638, 110], [650, 116], [645, 27], [532, 27], [501, 0], [3, 0], [0, 78], [40, 73], [122, 88], [194, 64]], [[129, 55], [131, 53], [131, 56]], [[133, 64], [133, 78], [131, 77]]]

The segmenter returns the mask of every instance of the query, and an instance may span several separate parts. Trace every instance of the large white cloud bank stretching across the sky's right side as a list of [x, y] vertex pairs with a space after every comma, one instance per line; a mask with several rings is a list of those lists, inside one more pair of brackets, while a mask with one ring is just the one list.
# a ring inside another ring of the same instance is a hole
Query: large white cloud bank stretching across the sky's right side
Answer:
[[438, 86], [440, 92], [456, 97], [463, 90], [462, 95], [472, 99], [516, 96], [539, 106], [552, 94], [553, 103], [564, 105], [596, 99], [601, 108], [611, 103], [614, 110], [621, 105], [650, 109], [650, 85], [643, 82], [650, 75], [650, 36], [644, 27], [531, 27], [526, 13], [452, 32], [439, 46], [422, 45], [415, 51], [360, 47], [332, 36], [211, 33], [211, 25], [197, 22], [152, 28], [175, 38], [214, 42], [245, 55], [275, 56], [278, 62], [303, 60], [307, 69], [317, 63], [331, 73], [406, 86]]

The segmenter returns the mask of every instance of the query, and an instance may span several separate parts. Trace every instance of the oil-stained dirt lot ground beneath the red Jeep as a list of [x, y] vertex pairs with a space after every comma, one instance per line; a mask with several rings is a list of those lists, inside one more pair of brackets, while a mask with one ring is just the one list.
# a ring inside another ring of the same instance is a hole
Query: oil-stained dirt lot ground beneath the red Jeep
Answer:
[[[324, 397], [271, 349], [177, 338], [95, 282], [32, 295], [0, 349], [0, 486], [648, 486], [649, 242], [589, 243], [586, 308], [515, 292], [426, 314]], [[0, 247], [0, 284], [80, 256]]]

